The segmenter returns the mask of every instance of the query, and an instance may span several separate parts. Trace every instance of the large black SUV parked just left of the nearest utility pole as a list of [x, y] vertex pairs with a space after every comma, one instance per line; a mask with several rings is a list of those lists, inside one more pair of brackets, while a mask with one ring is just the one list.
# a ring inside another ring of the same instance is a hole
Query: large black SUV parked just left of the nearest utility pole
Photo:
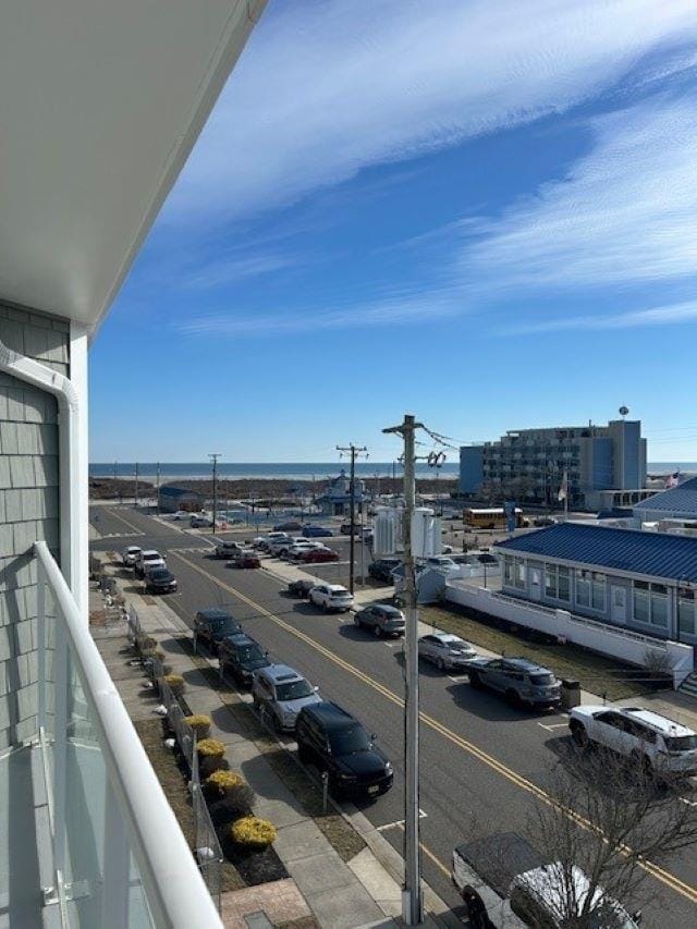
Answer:
[[387, 756], [375, 746], [375, 735], [337, 704], [321, 701], [304, 707], [295, 728], [302, 761], [313, 761], [329, 774], [333, 794], [384, 794], [394, 772]]

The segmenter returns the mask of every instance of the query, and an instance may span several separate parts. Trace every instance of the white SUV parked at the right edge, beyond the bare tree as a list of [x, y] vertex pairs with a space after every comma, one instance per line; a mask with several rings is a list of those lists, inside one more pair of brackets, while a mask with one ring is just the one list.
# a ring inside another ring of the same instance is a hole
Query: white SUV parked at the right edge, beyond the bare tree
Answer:
[[568, 728], [577, 745], [601, 745], [660, 777], [697, 774], [697, 734], [640, 707], [574, 707]]

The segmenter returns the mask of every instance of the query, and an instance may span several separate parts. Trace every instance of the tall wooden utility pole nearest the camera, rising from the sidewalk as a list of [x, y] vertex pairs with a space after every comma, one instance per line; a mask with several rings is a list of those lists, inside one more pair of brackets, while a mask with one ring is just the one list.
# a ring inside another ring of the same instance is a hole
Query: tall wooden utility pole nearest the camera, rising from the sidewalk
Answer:
[[412, 519], [416, 505], [416, 461], [414, 432], [421, 424], [406, 415], [401, 426], [383, 429], [404, 439], [404, 592], [406, 598], [406, 632], [404, 635], [406, 724], [404, 729], [404, 891], [402, 918], [407, 926], [424, 921], [421, 858], [419, 845], [418, 797], [418, 612], [416, 602], [416, 570], [412, 549]]

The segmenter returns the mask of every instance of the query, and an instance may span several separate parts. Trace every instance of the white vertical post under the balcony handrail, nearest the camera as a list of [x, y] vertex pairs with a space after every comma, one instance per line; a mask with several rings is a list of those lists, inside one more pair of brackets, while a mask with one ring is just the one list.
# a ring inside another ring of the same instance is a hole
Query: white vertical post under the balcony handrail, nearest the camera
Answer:
[[102, 929], [129, 929], [131, 852], [123, 815], [107, 780], [105, 803], [105, 855], [102, 865]]

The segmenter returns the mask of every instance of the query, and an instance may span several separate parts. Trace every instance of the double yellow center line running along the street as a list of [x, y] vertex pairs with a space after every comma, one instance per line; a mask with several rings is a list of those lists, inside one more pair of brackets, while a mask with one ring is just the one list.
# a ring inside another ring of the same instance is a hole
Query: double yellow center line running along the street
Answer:
[[[326, 648], [323, 645], [316, 641], [310, 636], [295, 628], [295, 626], [292, 626], [290, 623], [284, 622], [280, 616], [277, 616], [274, 613], [271, 613], [260, 603], [257, 603], [252, 600], [241, 590], [237, 590], [235, 587], [225, 584], [224, 580], [220, 580], [213, 574], [210, 574], [210, 572], [205, 571], [203, 567], [195, 564], [193, 561], [189, 561], [189, 559], [184, 558], [184, 555], [180, 554], [179, 552], [171, 553], [175, 554], [176, 558], [180, 558], [183, 562], [188, 564], [188, 566], [192, 567], [194, 571], [197, 571], [199, 574], [203, 574], [205, 577], [213, 580], [223, 590], [227, 590], [229, 594], [232, 594], [233, 597], [236, 597], [239, 600], [242, 600], [244, 603], [252, 607], [252, 609], [254, 609], [260, 615], [264, 615], [267, 619], [271, 620], [273, 623], [276, 623], [277, 626], [280, 626], [280, 628], [306, 643], [310, 646], [310, 648], [314, 648], [315, 651], [320, 652], [320, 655], [323, 655], [334, 664], [338, 664], [340, 668], [343, 668], [344, 671], [347, 671], [350, 674], [353, 674], [355, 677], [358, 677], [374, 690], [377, 690], [379, 694], [381, 694], [381, 696], [383, 696], [387, 700], [390, 700], [390, 702], [395, 704], [396, 706], [402, 708], [404, 707], [404, 700], [400, 696], [398, 696], [393, 690], [390, 690], [383, 684], [380, 684], [379, 681], [376, 681], [374, 677], [370, 677], [364, 671], [360, 671], [359, 668], [356, 668], [354, 664], [351, 664], [350, 662], [345, 661], [343, 658], [335, 655], [333, 651]], [[428, 725], [439, 735], [442, 735], [444, 738], [449, 739], [449, 742], [452, 742], [453, 745], [456, 745], [458, 748], [462, 748], [464, 751], [467, 751], [469, 755], [477, 758], [484, 765], [487, 765], [489, 768], [491, 768], [491, 770], [501, 774], [502, 778], [505, 778], [512, 784], [515, 784], [521, 790], [533, 794], [535, 797], [537, 797], [537, 799], [541, 800], [542, 803], [557, 807], [583, 829], [586, 829], [591, 832], [598, 832], [597, 827], [595, 827], [589, 820], [585, 819], [583, 816], [575, 812], [575, 810], [573, 809], [561, 807], [552, 796], [550, 796], [546, 791], [542, 790], [542, 787], [539, 787], [537, 784], [533, 783], [531, 781], [528, 781], [527, 778], [524, 778], [522, 774], [518, 774], [517, 771], [514, 771], [512, 768], [509, 768], [502, 761], [499, 761], [492, 755], [489, 755], [489, 753], [479, 748], [478, 745], [475, 745], [473, 742], [469, 742], [468, 739], [463, 738], [461, 735], [457, 735], [456, 732], [453, 732], [452, 730], [448, 729], [445, 725], [443, 725], [443, 723], [439, 722], [437, 719], [429, 716], [428, 713], [421, 712], [419, 714], [419, 718], [421, 722], [426, 723], [426, 725]], [[427, 854], [429, 854], [430, 857], [431, 853]], [[439, 867], [444, 867], [441, 863], [438, 864]], [[645, 871], [647, 871], [647, 873], [655, 877], [658, 881], [661, 881], [661, 883], [665, 884], [667, 887], [670, 887], [676, 893], [682, 894], [682, 896], [687, 897], [692, 903], [697, 903], [697, 888], [686, 883], [676, 875], [664, 870], [658, 865], [655, 865], [652, 861], [639, 861], [639, 865], [641, 868], [644, 868]], [[450, 875], [449, 871], [448, 873]]]

